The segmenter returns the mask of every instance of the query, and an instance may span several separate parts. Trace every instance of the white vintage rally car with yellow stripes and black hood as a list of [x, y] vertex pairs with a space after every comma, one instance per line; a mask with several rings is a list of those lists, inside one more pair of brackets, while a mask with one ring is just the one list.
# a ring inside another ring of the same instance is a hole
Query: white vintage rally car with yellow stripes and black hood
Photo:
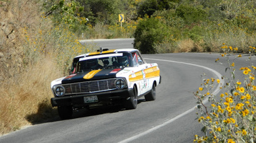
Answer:
[[136, 49], [101, 48], [76, 56], [70, 75], [51, 82], [51, 105], [62, 119], [82, 107], [121, 103], [126, 109], [135, 109], [140, 97], [155, 100], [159, 74], [157, 64], [147, 64]]

